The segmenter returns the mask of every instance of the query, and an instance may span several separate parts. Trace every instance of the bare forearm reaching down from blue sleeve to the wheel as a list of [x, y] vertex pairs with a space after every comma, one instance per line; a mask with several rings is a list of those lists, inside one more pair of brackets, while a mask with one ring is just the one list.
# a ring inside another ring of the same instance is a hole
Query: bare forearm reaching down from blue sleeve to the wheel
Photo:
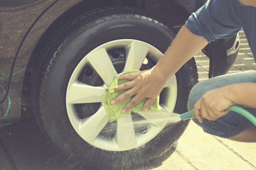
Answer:
[[166, 80], [169, 79], [207, 44], [205, 38], [191, 33], [186, 26], [183, 26], [176, 35], [174, 42], [166, 50], [164, 57], [153, 68], [154, 72]]

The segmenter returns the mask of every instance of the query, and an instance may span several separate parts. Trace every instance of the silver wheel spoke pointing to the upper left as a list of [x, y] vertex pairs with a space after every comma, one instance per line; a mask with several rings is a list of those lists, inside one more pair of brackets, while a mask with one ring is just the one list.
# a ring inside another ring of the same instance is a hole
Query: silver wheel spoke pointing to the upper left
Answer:
[[100, 75], [107, 86], [110, 86], [117, 71], [110, 60], [105, 48], [100, 48], [90, 52], [87, 55], [87, 60], [92, 64], [92, 67]]

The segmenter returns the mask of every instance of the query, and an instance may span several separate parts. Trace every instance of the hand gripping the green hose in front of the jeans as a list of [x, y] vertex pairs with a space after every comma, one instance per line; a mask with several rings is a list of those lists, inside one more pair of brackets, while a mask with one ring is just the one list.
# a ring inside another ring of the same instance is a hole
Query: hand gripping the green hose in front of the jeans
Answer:
[[194, 106], [196, 118], [200, 123], [203, 123], [203, 118], [216, 120], [227, 114], [229, 111], [226, 108], [234, 104], [230, 100], [228, 86], [208, 91]]

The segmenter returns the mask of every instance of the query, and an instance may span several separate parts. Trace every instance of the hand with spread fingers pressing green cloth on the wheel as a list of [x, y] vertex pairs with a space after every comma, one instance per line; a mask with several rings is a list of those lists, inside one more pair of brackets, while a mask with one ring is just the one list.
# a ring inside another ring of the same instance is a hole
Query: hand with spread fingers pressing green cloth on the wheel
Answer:
[[124, 84], [119, 84], [115, 91], [124, 89], [129, 90], [125, 91], [123, 94], [117, 96], [111, 101], [111, 104], [114, 105], [132, 97], [131, 101], [129, 101], [129, 103], [127, 103], [127, 105], [122, 109], [122, 113], [129, 111], [129, 109], [139, 103], [139, 101], [141, 101], [143, 98], [146, 98], [143, 110], [147, 111], [156, 97], [160, 94], [161, 90], [164, 88], [164, 84], [166, 82], [166, 78], [161, 77], [161, 75], [154, 71], [154, 67], [142, 72], [123, 74], [119, 77], [119, 79], [131, 80]]

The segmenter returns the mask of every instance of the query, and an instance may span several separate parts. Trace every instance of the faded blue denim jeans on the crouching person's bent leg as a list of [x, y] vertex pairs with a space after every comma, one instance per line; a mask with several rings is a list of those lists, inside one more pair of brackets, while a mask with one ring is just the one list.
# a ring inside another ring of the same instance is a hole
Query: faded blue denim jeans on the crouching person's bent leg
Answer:
[[[254, 82], [256, 83], [256, 71], [252, 72], [240, 72], [236, 74], [226, 74], [220, 77], [214, 77], [201, 81], [196, 86], [191, 89], [191, 93], [188, 97], [188, 111], [193, 109], [193, 106], [196, 102], [205, 94], [207, 91], [217, 89], [229, 84], [237, 84], [243, 82]], [[256, 96], [255, 96], [256, 100]], [[238, 105], [240, 106], [240, 105]], [[255, 108], [248, 108], [245, 106], [240, 106], [245, 110], [249, 111], [256, 116]], [[193, 121], [203, 128], [204, 132], [207, 132], [211, 135], [216, 135], [218, 137], [233, 137], [238, 135], [240, 132], [245, 130], [245, 128], [256, 128], [250, 120], [247, 120], [244, 116], [239, 113], [230, 111], [227, 115], [224, 115], [217, 120], [206, 120], [203, 119], [203, 123], [199, 123], [197, 119]]]

